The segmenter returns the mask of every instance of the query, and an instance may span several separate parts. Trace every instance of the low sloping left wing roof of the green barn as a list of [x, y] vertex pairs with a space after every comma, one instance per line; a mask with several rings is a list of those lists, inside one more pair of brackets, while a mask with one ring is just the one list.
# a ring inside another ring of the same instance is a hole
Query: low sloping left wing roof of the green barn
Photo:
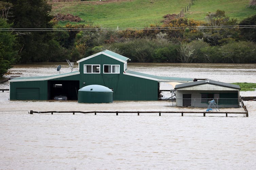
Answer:
[[60, 77], [66, 77], [66, 76], [72, 76], [80, 74], [79, 71], [74, 71], [70, 73], [62, 73], [62, 74], [56, 74], [51, 76], [34, 76], [34, 77], [16, 77], [12, 80], [9, 80], [10, 82], [16, 82], [16, 81], [41, 81], [41, 80], [50, 80], [54, 78], [60, 78]]

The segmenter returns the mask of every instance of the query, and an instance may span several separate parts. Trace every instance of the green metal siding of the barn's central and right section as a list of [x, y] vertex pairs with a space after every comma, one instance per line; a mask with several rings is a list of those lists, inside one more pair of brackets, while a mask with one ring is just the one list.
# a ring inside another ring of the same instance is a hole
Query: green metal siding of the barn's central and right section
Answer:
[[[85, 64], [100, 64], [100, 74], [85, 74]], [[124, 63], [118, 60], [100, 54], [79, 65], [80, 88], [99, 84], [113, 89], [113, 100], [158, 100], [158, 81], [124, 75]], [[120, 74], [104, 74], [103, 65], [120, 65]]]

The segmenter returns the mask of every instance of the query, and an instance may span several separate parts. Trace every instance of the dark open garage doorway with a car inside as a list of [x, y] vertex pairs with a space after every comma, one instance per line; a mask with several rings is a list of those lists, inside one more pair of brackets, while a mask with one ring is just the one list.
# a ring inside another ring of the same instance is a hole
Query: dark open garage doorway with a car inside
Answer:
[[48, 100], [53, 100], [56, 96], [67, 96], [68, 100], [77, 100], [78, 90], [78, 80], [49, 80]]

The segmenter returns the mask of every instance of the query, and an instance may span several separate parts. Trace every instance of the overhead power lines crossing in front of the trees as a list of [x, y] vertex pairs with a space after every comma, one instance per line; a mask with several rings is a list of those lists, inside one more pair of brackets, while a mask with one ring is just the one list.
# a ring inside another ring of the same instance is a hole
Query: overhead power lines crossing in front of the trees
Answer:
[[125, 31], [125, 30], [182, 30], [256, 28], [256, 25], [187, 26], [187, 27], [132, 27], [132, 28], [0, 28], [0, 31]]

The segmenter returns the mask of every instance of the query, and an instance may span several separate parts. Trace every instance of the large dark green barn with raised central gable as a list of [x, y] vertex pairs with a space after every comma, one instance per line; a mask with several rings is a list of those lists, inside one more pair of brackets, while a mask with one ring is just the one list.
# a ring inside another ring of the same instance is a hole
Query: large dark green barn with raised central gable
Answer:
[[129, 58], [109, 50], [77, 61], [78, 71], [10, 80], [11, 100], [52, 100], [66, 95], [78, 99], [78, 90], [98, 84], [113, 90], [113, 100], [158, 100], [160, 82], [192, 82], [192, 78], [160, 77], [127, 70]]

